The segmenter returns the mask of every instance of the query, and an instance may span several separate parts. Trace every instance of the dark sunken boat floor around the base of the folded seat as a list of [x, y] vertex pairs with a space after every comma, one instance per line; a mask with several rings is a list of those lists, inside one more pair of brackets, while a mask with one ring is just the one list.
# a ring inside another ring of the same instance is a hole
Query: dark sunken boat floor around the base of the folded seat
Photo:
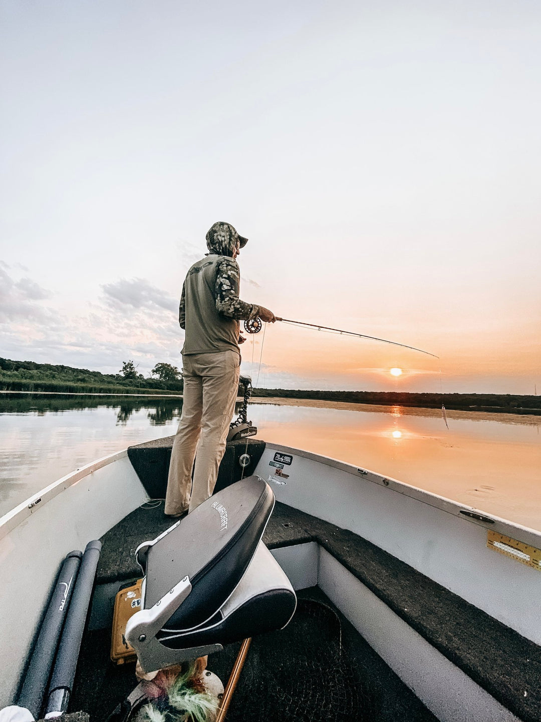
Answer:
[[[298, 599], [285, 630], [252, 640], [228, 722], [437, 722], [319, 588], [300, 591]], [[312, 601], [326, 612], [324, 626], [321, 614], [307, 609]], [[224, 684], [239, 646], [208, 657], [208, 669]], [[109, 652], [110, 630], [85, 635], [71, 708], [92, 722], [107, 720], [137, 684], [135, 664], [115, 665]]]

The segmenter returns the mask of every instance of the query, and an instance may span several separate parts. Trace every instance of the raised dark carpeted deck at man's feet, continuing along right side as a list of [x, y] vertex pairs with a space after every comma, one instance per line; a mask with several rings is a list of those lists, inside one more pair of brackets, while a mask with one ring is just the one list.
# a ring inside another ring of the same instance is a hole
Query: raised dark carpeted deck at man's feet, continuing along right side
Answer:
[[[141, 575], [133, 554], [141, 541], [171, 525], [162, 509], [138, 508], [105, 534], [98, 583], [128, 582]], [[276, 503], [263, 541], [269, 549], [316, 541], [503, 706], [524, 722], [541, 719], [541, 648], [514, 630], [353, 532], [281, 503]], [[388, 669], [387, 674], [394, 673]], [[397, 678], [392, 682], [393, 688], [401, 684]], [[406, 688], [403, 692], [410, 694]], [[381, 719], [424, 718], [401, 711]]]

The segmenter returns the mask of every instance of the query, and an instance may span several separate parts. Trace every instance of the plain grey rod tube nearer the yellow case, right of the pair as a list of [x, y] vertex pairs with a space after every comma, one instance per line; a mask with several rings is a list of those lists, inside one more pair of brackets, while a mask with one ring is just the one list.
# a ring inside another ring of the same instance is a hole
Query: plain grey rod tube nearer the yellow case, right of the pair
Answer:
[[101, 541], [95, 539], [89, 541], [87, 548], [84, 549], [81, 568], [50, 678], [46, 718], [58, 717], [68, 707], [101, 548]]

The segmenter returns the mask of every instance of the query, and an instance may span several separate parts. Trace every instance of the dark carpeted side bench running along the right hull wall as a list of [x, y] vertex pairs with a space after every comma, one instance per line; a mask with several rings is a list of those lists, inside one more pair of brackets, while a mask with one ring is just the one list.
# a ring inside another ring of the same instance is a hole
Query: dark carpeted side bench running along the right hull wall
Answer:
[[302, 537], [304, 529], [311, 534], [504, 707], [524, 722], [541, 720], [540, 646], [352, 531], [294, 509], [282, 513], [291, 524], [287, 532]]

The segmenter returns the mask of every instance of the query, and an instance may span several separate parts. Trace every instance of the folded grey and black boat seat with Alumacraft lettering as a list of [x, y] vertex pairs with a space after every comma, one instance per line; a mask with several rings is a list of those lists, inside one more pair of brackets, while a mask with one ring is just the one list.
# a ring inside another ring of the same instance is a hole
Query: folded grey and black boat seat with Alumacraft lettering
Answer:
[[[126, 640], [145, 671], [286, 625], [295, 604], [289, 580], [263, 545], [250, 563], [273, 506], [271, 487], [248, 477], [138, 547], [143, 608], [128, 621]], [[278, 626], [260, 619], [261, 609]]]

